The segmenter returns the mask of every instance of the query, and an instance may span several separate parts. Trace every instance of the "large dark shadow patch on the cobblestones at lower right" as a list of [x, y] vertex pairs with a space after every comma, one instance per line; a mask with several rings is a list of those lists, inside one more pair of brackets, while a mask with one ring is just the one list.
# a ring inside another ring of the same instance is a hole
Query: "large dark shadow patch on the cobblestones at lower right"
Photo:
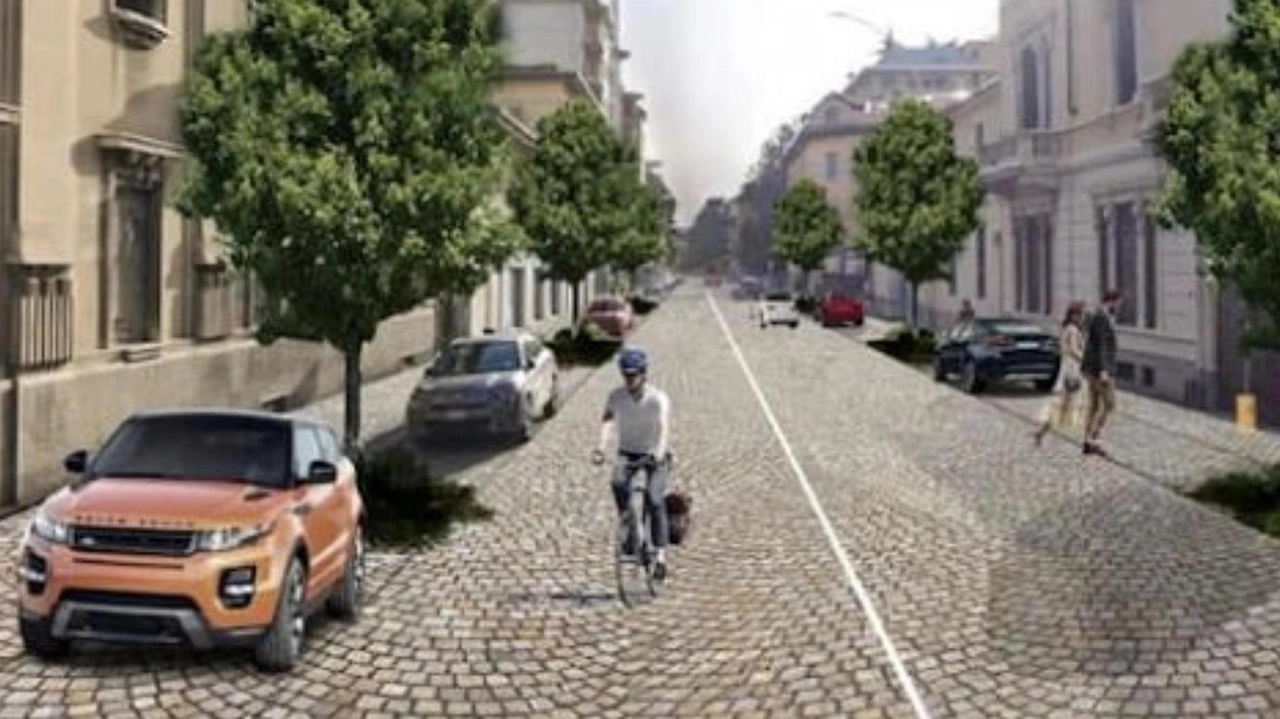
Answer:
[[1280, 586], [1280, 544], [1135, 482], [1041, 513], [1011, 541], [986, 632], [995, 661], [1042, 681], [1220, 655]]

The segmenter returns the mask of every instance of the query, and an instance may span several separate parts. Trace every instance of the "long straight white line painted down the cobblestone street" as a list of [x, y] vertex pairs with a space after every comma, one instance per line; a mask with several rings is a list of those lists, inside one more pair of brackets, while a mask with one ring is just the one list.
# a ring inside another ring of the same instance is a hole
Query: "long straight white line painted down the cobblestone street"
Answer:
[[836, 530], [832, 528], [831, 519], [827, 518], [827, 512], [822, 508], [822, 503], [818, 502], [818, 495], [814, 494], [813, 486], [809, 485], [808, 475], [805, 475], [804, 468], [800, 467], [800, 462], [796, 459], [795, 452], [791, 450], [791, 443], [787, 441], [787, 436], [782, 432], [782, 427], [778, 425], [778, 420], [773, 415], [773, 408], [769, 406], [769, 400], [764, 398], [764, 393], [760, 390], [759, 383], [755, 381], [755, 375], [751, 372], [751, 367], [746, 363], [746, 357], [742, 356], [742, 349], [737, 345], [737, 340], [733, 339], [733, 333], [728, 329], [728, 322], [724, 321], [724, 315], [721, 313], [719, 306], [716, 303], [716, 297], [710, 292], [707, 293], [707, 302], [712, 306], [712, 311], [716, 312], [716, 319], [719, 321], [721, 330], [724, 333], [724, 339], [728, 340], [730, 347], [733, 349], [733, 356], [737, 357], [737, 362], [742, 367], [742, 374], [746, 375], [746, 381], [751, 385], [751, 391], [755, 393], [755, 399], [760, 403], [760, 409], [764, 411], [764, 418], [769, 421], [769, 427], [773, 429], [774, 436], [778, 438], [778, 443], [782, 445], [782, 452], [786, 453], [787, 462], [791, 464], [791, 471], [800, 482], [800, 489], [803, 489], [805, 496], [809, 498], [809, 507], [818, 517], [818, 523], [822, 525], [822, 531], [826, 532], [827, 541], [831, 542], [831, 550], [836, 553], [836, 559], [840, 562], [840, 567], [845, 571], [845, 578], [849, 581], [849, 586], [852, 587], [854, 595], [858, 597], [858, 604], [861, 605], [863, 613], [867, 614], [867, 620], [870, 622], [872, 628], [876, 631], [876, 636], [879, 638], [881, 646], [884, 647], [884, 654], [888, 655], [888, 663], [893, 667], [893, 674], [897, 676], [899, 684], [902, 686], [902, 691], [911, 702], [911, 707], [915, 709], [916, 716], [919, 716], [919, 719], [931, 719], [929, 709], [924, 705], [924, 700], [920, 699], [920, 692], [915, 687], [915, 681], [911, 679], [911, 674], [908, 673], [906, 667], [902, 664], [902, 659], [897, 654], [897, 649], [893, 647], [893, 640], [890, 638], [888, 632], [884, 631], [884, 623], [881, 622], [879, 613], [876, 612], [876, 605], [872, 604], [870, 595], [867, 594], [867, 587], [864, 587], [861, 580], [858, 578], [858, 572], [854, 571], [854, 563], [850, 562], [849, 553], [845, 551], [845, 546], [840, 544], [840, 539], [836, 537]]

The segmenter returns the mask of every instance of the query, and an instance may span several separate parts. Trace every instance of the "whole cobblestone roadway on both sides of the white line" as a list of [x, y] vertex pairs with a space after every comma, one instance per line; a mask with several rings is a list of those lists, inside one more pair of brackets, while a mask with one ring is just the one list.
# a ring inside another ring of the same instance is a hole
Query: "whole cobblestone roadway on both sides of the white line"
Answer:
[[[677, 484], [694, 495], [655, 601], [616, 599], [614, 512], [588, 461], [607, 370], [532, 443], [460, 476], [494, 519], [372, 557], [365, 617], [314, 627], [291, 676], [152, 649], [41, 663], [22, 654], [5, 565], [0, 718], [919, 716], [906, 687], [938, 718], [1280, 714], [1280, 545], [1149, 472], [1062, 441], [1037, 452], [1007, 407], [837, 333], [745, 317], [685, 289], [635, 339], [672, 395]], [[412, 381], [385, 381], [366, 412], [398, 420]], [[0, 521], [5, 557], [28, 519]]]

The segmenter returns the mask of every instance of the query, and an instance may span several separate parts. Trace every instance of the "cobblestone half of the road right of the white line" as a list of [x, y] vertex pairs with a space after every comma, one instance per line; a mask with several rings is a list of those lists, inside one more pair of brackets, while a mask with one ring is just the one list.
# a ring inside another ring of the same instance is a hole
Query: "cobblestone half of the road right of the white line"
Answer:
[[737, 333], [938, 716], [1280, 714], [1280, 545], [846, 339]]

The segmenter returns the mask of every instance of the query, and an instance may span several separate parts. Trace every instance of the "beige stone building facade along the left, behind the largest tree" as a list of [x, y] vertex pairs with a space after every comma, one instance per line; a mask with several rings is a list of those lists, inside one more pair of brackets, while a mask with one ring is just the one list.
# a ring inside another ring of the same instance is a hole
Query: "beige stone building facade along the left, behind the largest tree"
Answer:
[[[58, 486], [68, 450], [138, 408], [287, 408], [340, 389], [337, 352], [252, 339], [260, 298], [172, 202], [184, 73], [206, 33], [247, 13], [244, 0], [0, 0], [0, 505]], [[531, 142], [526, 122], [502, 119]], [[449, 329], [545, 325], [567, 297], [517, 257]], [[442, 324], [433, 303], [384, 322], [366, 375], [431, 352]]]

